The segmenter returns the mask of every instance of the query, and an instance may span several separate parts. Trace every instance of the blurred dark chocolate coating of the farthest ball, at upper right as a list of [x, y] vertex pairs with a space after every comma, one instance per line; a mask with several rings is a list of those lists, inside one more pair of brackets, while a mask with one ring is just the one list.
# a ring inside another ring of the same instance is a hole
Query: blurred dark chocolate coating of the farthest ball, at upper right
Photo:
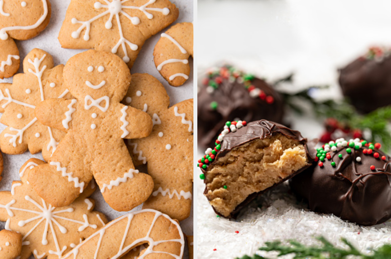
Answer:
[[339, 71], [344, 96], [362, 113], [391, 105], [391, 56], [359, 57]]

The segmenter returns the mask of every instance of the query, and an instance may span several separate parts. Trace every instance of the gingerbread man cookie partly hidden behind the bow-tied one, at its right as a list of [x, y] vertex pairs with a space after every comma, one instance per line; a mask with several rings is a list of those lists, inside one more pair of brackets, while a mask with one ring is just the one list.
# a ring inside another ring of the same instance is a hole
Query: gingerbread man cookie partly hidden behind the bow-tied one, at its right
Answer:
[[184, 220], [192, 204], [193, 99], [168, 108], [163, 85], [151, 75], [134, 74], [123, 102], [147, 112], [154, 124], [149, 137], [128, 141], [134, 163], [147, 163], [155, 183], [143, 208]]

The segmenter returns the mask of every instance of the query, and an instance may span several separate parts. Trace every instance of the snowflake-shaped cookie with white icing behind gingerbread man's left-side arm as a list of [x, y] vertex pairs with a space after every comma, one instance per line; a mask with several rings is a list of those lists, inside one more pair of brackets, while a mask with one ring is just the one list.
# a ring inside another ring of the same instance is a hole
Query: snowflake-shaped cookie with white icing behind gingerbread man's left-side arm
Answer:
[[63, 67], [54, 67], [49, 53], [34, 49], [23, 61], [24, 73], [15, 75], [13, 83], [0, 83], [0, 121], [8, 126], [0, 134], [4, 153], [42, 151], [45, 160], [54, 153], [65, 133], [41, 124], [34, 108], [48, 98], [71, 98], [63, 84]]

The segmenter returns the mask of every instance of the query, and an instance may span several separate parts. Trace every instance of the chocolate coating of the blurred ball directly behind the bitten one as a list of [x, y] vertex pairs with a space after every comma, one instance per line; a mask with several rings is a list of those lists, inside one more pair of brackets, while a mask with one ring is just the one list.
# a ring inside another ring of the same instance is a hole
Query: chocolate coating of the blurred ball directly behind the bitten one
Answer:
[[[212, 146], [224, 123], [236, 118], [242, 121], [268, 119], [282, 122], [283, 100], [280, 94], [264, 80], [254, 78], [251, 80], [251, 85], [262, 90], [266, 96], [272, 96], [274, 101], [271, 104], [258, 96], [251, 97], [244, 82], [241, 82], [238, 78], [230, 82], [229, 78], [214, 75], [211, 79], [215, 80], [217, 77], [222, 78], [222, 82], [217, 89], [208, 92], [208, 85], [203, 85], [198, 93], [197, 134], [200, 147]], [[211, 107], [212, 102], [217, 103], [217, 109], [214, 110]]]

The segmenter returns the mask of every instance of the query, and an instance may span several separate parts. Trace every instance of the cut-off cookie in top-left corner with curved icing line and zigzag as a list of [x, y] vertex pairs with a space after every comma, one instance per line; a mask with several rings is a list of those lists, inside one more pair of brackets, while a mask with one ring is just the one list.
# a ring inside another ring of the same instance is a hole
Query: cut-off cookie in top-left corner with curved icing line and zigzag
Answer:
[[43, 31], [50, 20], [48, 0], [0, 0], [0, 78], [19, 69], [19, 50], [13, 39], [27, 40]]

